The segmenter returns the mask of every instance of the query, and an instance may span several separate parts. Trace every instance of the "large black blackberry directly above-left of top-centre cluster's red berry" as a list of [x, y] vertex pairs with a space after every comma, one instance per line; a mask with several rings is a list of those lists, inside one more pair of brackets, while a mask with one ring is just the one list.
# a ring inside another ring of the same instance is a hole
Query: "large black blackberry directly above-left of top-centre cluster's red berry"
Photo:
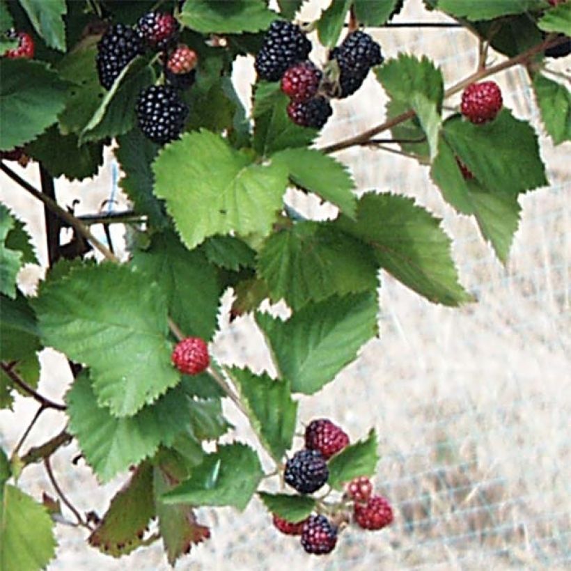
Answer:
[[290, 65], [306, 60], [309, 52], [311, 42], [299, 26], [274, 20], [264, 36], [254, 67], [260, 79], [278, 81]]

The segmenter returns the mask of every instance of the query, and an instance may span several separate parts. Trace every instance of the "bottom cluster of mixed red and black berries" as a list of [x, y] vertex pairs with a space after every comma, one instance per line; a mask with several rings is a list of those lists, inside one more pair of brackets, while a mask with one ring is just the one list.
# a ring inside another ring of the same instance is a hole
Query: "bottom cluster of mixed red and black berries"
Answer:
[[[328, 419], [315, 419], [306, 427], [305, 448], [286, 462], [283, 479], [300, 494], [311, 494], [327, 483], [327, 461], [350, 444], [341, 427]], [[318, 500], [318, 513], [302, 521], [290, 522], [272, 515], [274, 527], [286, 535], [299, 535], [307, 553], [322, 555], [333, 551], [338, 533], [352, 519], [362, 529], [376, 530], [393, 521], [389, 501], [373, 495], [373, 485], [365, 476], [354, 478], [345, 488], [340, 502], [324, 504]], [[324, 515], [324, 512], [327, 515]]]

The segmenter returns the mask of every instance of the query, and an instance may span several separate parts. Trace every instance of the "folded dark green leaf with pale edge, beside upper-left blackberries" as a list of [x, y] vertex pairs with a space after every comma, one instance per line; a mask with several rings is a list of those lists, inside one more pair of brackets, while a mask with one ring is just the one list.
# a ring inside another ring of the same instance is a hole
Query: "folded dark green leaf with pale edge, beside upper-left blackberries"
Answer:
[[120, 73], [100, 106], [81, 131], [79, 143], [127, 133], [136, 122], [136, 102], [141, 91], [155, 81], [145, 58], [136, 57]]

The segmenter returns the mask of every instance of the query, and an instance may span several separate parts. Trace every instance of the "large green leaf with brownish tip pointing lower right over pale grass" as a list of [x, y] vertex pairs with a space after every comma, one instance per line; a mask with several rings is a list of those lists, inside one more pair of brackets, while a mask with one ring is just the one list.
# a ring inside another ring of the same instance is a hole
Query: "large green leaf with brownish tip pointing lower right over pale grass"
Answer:
[[368, 193], [359, 201], [357, 222], [342, 217], [338, 224], [370, 244], [381, 267], [431, 302], [471, 302], [458, 283], [451, 240], [439, 222], [411, 198]]

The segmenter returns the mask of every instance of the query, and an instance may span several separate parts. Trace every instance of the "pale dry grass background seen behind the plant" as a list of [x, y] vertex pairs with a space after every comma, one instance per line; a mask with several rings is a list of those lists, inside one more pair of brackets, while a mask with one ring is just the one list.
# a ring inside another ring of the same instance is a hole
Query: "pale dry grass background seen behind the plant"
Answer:
[[[310, 3], [304, 18], [318, 8], [319, 2]], [[419, 0], [409, 0], [399, 20], [427, 16]], [[386, 56], [428, 54], [441, 66], [446, 84], [474, 70], [476, 42], [464, 31], [382, 29], [374, 35]], [[247, 98], [251, 62], [240, 61], [239, 70]], [[498, 81], [516, 116], [531, 116], [541, 132], [524, 72], [510, 70]], [[361, 93], [336, 104], [320, 142], [381, 123], [384, 102], [382, 89], [369, 78]], [[203, 509], [201, 519], [212, 525], [212, 540], [194, 548], [178, 569], [570, 568], [571, 176], [568, 144], [555, 149], [543, 136], [542, 143], [551, 185], [522, 197], [522, 223], [508, 267], [495, 260], [473, 221], [457, 217], [441, 201], [425, 167], [381, 151], [340, 154], [359, 191], [377, 188], [415, 196], [443, 217], [455, 239], [462, 281], [479, 298], [464, 308], [443, 308], [383, 274], [380, 339], [363, 347], [359, 359], [318, 398], [302, 398], [302, 421], [330, 416], [353, 439], [370, 426], [377, 428], [383, 457], [375, 485], [393, 501], [396, 522], [383, 532], [345, 532], [335, 554], [323, 559], [306, 556], [295, 540], [276, 533], [258, 501], [244, 513]], [[23, 172], [38, 184], [35, 166]], [[1, 180], [0, 197], [38, 237], [40, 206]], [[80, 214], [97, 212], [110, 188], [110, 161], [96, 180], [57, 183], [63, 203], [79, 198]], [[294, 194], [290, 199], [314, 216], [331, 214], [315, 201]], [[127, 206], [125, 197], [117, 200], [117, 210]], [[115, 231], [120, 240], [120, 230]], [[38, 250], [45, 260], [40, 242]], [[27, 268], [22, 281], [31, 284], [40, 274], [38, 268]], [[221, 326], [214, 343], [221, 359], [271, 369], [263, 339], [249, 318]], [[41, 390], [61, 398], [71, 380], [65, 361], [45, 351], [42, 363]], [[0, 412], [0, 444], [13, 446], [34, 410], [18, 399], [15, 414]], [[228, 415], [237, 436], [247, 439], [242, 419], [229, 407]], [[63, 416], [48, 412], [29, 444], [54, 435], [64, 422]], [[75, 453], [75, 446], [58, 453], [54, 470], [80, 510], [101, 513], [124, 478], [98, 487], [88, 467], [72, 466]], [[36, 497], [42, 490], [53, 494], [40, 467], [26, 469], [22, 483]], [[158, 545], [117, 561], [87, 547], [77, 529], [58, 526], [58, 539], [58, 558], [50, 570], [168, 568]]]

